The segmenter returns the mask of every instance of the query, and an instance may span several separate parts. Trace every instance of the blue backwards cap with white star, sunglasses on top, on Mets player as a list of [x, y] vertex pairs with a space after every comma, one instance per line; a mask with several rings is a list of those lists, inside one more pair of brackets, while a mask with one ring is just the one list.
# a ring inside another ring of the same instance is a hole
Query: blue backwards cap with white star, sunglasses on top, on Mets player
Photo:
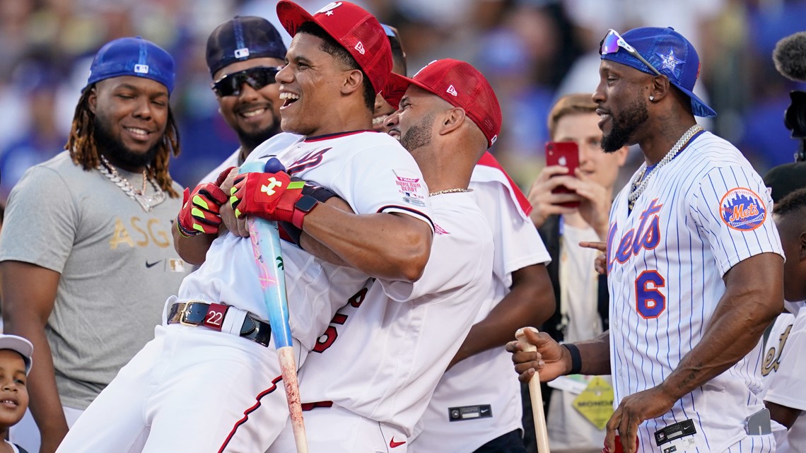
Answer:
[[[605, 39], [610, 37], [605, 36]], [[692, 100], [692, 113], [695, 116], [713, 117], [717, 112], [692, 92], [697, 77], [700, 76], [700, 56], [694, 46], [671, 27], [642, 27], [626, 31], [621, 37], [644, 57], [659, 73], [669, 77], [675, 85]], [[604, 48], [605, 39], [602, 44]], [[601, 52], [601, 51], [600, 51]], [[655, 75], [644, 62], [629, 54], [619, 46], [617, 52], [601, 52], [602, 60], [615, 61], [644, 73]]]

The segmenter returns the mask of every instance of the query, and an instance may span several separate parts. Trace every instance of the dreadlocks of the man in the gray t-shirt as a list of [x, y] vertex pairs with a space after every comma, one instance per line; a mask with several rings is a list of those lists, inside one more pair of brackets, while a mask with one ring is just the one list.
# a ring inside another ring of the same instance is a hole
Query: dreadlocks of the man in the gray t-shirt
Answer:
[[[81, 94], [76, 106], [76, 113], [73, 114], [73, 127], [70, 129], [70, 136], [64, 149], [70, 152], [74, 164], [81, 164], [85, 170], [98, 168], [101, 158], [98, 154], [98, 147], [95, 144], [95, 122], [94, 114], [89, 110], [89, 94], [95, 89], [95, 85], [88, 86]], [[154, 159], [148, 164], [146, 174], [148, 179], [156, 181], [160, 189], [163, 189], [172, 198], [179, 196], [171, 186], [172, 179], [168, 174], [168, 158], [179, 156], [179, 130], [177, 123], [173, 119], [173, 112], [168, 107], [168, 124], [160, 143], [160, 149]]]

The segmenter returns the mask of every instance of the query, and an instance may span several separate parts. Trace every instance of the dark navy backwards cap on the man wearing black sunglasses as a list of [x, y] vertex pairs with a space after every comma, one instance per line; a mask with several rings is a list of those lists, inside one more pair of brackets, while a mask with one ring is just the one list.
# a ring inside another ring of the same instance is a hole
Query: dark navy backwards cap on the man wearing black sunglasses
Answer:
[[280, 32], [262, 17], [235, 16], [222, 23], [207, 38], [207, 68], [210, 77], [235, 61], [252, 58], [285, 60], [285, 43]]

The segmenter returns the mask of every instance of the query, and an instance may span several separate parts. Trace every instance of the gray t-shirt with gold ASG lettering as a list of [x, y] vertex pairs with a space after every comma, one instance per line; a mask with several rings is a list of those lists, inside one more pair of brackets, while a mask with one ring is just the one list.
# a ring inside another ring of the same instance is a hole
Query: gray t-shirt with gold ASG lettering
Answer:
[[[118, 172], [142, 187], [142, 174]], [[146, 194], [154, 191], [149, 184]], [[145, 212], [101, 172], [73, 164], [68, 152], [29, 169], [11, 191], [0, 261], [61, 274], [45, 332], [62, 405], [85, 409], [154, 338], [165, 300], [190, 270], [173, 248], [180, 205], [166, 194]]]

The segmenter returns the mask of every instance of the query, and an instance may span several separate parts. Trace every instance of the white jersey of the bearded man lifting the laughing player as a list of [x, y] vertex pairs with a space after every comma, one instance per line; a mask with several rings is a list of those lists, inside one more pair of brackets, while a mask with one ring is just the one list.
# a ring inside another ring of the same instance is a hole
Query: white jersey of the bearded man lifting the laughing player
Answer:
[[376, 281], [339, 310], [338, 338], [301, 370], [303, 402], [332, 401], [411, 435], [489, 291], [492, 232], [473, 195], [430, 197], [436, 235], [423, 276]]

